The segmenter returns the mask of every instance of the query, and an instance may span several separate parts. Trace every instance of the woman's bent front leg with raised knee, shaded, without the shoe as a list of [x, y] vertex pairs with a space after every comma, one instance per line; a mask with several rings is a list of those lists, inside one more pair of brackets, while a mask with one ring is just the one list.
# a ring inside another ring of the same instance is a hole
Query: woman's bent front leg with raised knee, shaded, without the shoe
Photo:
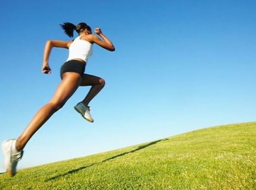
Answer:
[[88, 86], [91, 85], [88, 94], [86, 95], [85, 99], [83, 99], [83, 105], [88, 107], [88, 104], [90, 100], [92, 100], [98, 93], [101, 91], [101, 89], [105, 85], [105, 80], [100, 77], [96, 77], [93, 75], [83, 74], [82, 82], [80, 83], [80, 86]]

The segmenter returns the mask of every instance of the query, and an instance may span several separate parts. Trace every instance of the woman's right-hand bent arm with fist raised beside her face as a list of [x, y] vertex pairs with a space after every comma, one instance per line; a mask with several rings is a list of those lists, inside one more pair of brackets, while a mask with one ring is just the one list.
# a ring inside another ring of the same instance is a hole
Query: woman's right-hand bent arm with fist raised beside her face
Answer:
[[98, 34], [101, 37], [102, 40], [99, 37], [92, 35], [92, 41], [98, 44], [99, 46], [103, 47], [104, 49], [107, 49], [113, 52], [115, 50], [113, 43], [110, 41], [110, 39], [108, 39], [108, 37], [106, 37], [102, 33], [101, 29], [97, 28], [94, 31], [96, 34]]

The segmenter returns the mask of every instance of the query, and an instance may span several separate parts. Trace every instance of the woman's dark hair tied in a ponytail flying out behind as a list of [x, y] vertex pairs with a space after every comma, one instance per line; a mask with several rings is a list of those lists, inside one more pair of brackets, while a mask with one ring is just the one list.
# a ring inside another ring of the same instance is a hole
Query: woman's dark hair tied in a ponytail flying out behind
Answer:
[[75, 26], [72, 23], [63, 23], [63, 24], [60, 24], [60, 26], [64, 30], [65, 34], [67, 34], [69, 37], [74, 36], [74, 34], [73, 34], [74, 30], [76, 30], [77, 33], [79, 33], [80, 31], [83, 31], [85, 29], [92, 32], [92, 29], [90, 29], [90, 27], [86, 23], [79, 23], [79, 24], [77, 24], [77, 26]]

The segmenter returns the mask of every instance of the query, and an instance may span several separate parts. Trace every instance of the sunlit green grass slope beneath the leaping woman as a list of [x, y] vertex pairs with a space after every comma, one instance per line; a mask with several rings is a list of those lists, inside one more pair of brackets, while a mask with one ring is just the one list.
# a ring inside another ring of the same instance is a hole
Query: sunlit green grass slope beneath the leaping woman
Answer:
[[4, 173], [0, 189], [256, 189], [256, 123]]

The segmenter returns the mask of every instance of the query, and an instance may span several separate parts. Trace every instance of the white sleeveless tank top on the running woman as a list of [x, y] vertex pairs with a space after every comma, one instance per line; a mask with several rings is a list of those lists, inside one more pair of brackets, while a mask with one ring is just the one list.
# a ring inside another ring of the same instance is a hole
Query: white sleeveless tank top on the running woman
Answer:
[[81, 36], [76, 37], [74, 41], [70, 44], [68, 48], [67, 61], [79, 58], [87, 62], [88, 57], [92, 56], [92, 43], [86, 40], [81, 40], [80, 37]]

